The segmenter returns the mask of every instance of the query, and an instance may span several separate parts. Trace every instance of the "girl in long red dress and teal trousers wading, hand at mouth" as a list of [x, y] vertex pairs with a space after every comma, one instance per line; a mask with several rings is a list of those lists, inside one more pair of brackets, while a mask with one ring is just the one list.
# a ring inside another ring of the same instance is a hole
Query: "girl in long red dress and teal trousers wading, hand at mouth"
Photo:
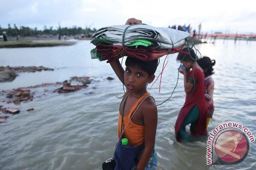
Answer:
[[190, 54], [178, 54], [177, 61], [183, 64], [180, 73], [184, 75], [186, 100], [175, 124], [178, 142], [192, 142], [186, 133], [186, 125], [191, 124], [192, 135], [207, 135], [207, 102], [204, 97], [204, 71], [196, 62], [197, 56], [192, 48], [183, 48]]

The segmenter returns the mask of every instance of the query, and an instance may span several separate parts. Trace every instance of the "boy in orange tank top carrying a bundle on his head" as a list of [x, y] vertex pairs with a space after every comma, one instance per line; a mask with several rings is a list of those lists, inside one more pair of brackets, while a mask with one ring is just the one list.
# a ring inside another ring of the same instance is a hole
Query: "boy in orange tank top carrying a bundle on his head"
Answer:
[[[141, 20], [128, 19], [125, 24], [141, 24]], [[143, 62], [127, 57], [126, 68], [122, 68], [119, 59], [110, 62], [117, 77], [125, 85], [127, 91], [119, 107], [118, 137], [122, 125], [122, 138], [127, 138], [130, 145], [143, 146], [139, 160], [135, 165], [121, 164], [121, 169], [128, 166], [134, 170], [152, 170], [157, 168], [157, 153], [154, 150], [155, 135], [157, 130], [157, 107], [153, 97], [146, 90], [146, 85], [154, 80], [158, 60]], [[126, 98], [126, 102], [124, 99]], [[125, 103], [125, 105], [124, 105]], [[123, 121], [122, 121], [123, 110]], [[133, 115], [133, 116], [132, 116]], [[131, 121], [130, 121], [131, 119]], [[120, 148], [117, 148], [119, 150]], [[116, 151], [117, 152], [117, 151]], [[120, 153], [119, 153], [120, 154]]]

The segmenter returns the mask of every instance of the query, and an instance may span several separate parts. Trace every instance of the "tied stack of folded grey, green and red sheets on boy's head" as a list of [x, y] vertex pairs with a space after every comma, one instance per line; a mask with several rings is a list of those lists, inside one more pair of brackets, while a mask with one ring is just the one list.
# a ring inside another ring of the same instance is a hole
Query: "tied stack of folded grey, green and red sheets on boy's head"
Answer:
[[184, 31], [148, 25], [104, 27], [92, 35], [96, 48], [91, 50], [91, 57], [108, 62], [123, 56], [151, 61], [177, 52], [188, 37]]

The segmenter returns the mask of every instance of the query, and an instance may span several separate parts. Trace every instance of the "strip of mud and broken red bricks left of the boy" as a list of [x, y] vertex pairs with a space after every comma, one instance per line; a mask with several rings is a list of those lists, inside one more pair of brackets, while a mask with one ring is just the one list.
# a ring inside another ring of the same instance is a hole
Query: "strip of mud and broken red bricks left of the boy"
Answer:
[[[102, 78], [103, 81], [110, 81], [112, 77]], [[6, 122], [6, 119], [12, 115], [22, 112], [34, 112], [36, 108], [21, 108], [23, 102], [32, 102], [34, 99], [44, 99], [47, 96], [58, 95], [62, 93], [72, 93], [84, 88], [96, 87], [90, 85], [92, 82], [98, 82], [93, 77], [70, 77], [64, 82], [43, 83], [40, 85], [29, 86], [25, 88], [16, 88], [12, 90], [0, 91], [0, 123]], [[85, 93], [85, 95], [93, 92]]]

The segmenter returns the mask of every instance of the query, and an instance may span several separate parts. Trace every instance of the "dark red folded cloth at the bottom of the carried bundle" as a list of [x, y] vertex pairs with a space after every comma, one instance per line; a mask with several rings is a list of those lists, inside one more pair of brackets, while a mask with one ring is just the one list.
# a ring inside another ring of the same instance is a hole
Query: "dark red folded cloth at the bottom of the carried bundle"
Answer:
[[113, 59], [123, 57], [125, 54], [128, 57], [134, 57], [142, 61], [151, 61], [158, 59], [166, 54], [177, 52], [175, 49], [159, 49], [143, 46], [137, 46], [136, 48], [125, 46], [125, 54], [123, 54], [122, 46], [105, 44], [97, 45], [96, 50], [100, 52], [102, 60], [108, 60], [108, 62], [112, 61]]

